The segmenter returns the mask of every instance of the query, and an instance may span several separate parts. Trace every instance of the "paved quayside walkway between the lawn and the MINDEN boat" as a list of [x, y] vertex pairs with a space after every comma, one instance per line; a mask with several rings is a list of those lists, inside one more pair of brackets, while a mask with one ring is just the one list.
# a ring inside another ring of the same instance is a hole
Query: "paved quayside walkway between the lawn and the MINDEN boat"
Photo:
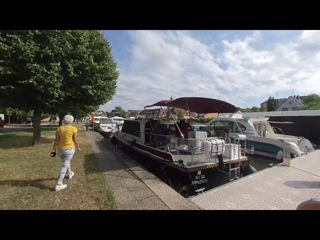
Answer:
[[198, 209], [108, 139], [86, 133], [120, 209]]

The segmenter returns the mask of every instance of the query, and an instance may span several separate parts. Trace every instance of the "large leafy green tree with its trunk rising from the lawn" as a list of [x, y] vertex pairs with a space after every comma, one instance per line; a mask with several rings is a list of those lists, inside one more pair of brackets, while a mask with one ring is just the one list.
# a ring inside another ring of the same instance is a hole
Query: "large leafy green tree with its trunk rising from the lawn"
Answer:
[[0, 30], [0, 101], [33, 110], [33, 143], [43, 112], [79, 114], [112, 99], [118, 78], [99, 30]]

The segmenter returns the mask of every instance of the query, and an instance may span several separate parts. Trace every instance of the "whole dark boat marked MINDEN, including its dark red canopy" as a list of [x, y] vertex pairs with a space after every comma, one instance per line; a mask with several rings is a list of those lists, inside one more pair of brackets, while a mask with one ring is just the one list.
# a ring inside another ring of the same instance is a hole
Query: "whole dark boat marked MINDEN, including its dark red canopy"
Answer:
[[247, 157], [239, 141], [234, 140], [245, 135], [229, 137], [223, 129], [194, 131], [184, 119], [177, 122], [170, 110], [174, 107], [198, 114], [234, 112], [234, 105], [213, 98], [180, 97], [160, 100], [144, 109], [153, 106], [167, 107], [165, 118], [124, 119], [122, 131], [116, 132], [111, 142], [144, 156], [149, 169], [157, 171], [156, 175], [165, 172], [164, 179], [185, 186], [186, 195], [200, 194], [240, 178]]

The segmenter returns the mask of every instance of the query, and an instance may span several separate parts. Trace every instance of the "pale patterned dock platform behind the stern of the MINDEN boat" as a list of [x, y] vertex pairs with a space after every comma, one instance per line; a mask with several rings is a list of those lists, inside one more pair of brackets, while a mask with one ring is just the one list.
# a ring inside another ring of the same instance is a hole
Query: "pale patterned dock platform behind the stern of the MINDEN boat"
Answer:
[[200, 209], [290, 210], [320, 198], [320, 150], [189, 198]]

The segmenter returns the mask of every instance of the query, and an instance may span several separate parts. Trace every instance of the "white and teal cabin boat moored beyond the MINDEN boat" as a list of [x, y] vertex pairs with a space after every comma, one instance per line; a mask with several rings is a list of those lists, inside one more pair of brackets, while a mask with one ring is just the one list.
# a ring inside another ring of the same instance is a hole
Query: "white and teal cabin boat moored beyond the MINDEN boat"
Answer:
[[[270, 123], [292, 124], [293, 122], [274, 122], [268, 121], [268, 119], [269, 117], [243, 117], [239, 112], [226, 115], [220, 113], [206, 126], [213, 129], [227, 128], [229, 136], [244, 134], [246, 135], [247, 153], [278, 161], [282, 160], [284, 144], [288, 145], [291, 158], [314, 150], [313, 144], [308, 139], [301, 136], [285, 135], [281, 128], [270, 125]], [[241, 145], [244, 145], [243, 140]]]

